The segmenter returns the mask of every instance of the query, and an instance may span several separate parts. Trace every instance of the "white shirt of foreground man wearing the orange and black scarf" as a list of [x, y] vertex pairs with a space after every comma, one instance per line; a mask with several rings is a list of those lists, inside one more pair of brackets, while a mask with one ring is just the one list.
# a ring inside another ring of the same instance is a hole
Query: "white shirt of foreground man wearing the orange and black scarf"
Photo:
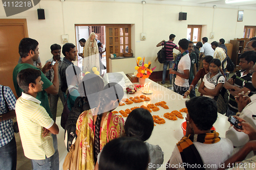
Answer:
[[[221, 140], [217, 143], [212, 144], [205, 144], [201, 142], [193, 142], [195, 147], [197, 148], [204, 165], [211, 166], [210, 168], [206, 167], [206, 170], [214, 170], [218, 169], [220, 163], [227, 160], [232, 152], [233, 152], [233, 146], [232, 142], [229, 139], [221, 138]], [[182, 164], [182, 159], [180, 156], [179, 149], [177, 145], [175, 145], [174, 151], [172, 153], [172, 156], [170, 156], [170, 162], [171, 165], [179, 165]], [[178, 167], [178, 166], [177, 166]], [[178, 168], [178, 169], [185, 169], [185, 168]], [[197, 168], [195, 168], [197, 169]]]

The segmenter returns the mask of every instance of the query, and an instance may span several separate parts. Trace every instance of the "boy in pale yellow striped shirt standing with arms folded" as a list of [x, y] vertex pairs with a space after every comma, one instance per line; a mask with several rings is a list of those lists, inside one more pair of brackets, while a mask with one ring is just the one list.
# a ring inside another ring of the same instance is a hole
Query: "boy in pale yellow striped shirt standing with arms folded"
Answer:
[[[31, 159], [33, 169], [53, 169], [54, 148], [52, 134], [58, 134], [58, 126], [46, 109], [36, 99], [42, 91], [41, 71], [27, 68], [19, 71], [17, 83], [22, 96], [16, 102], [16, 116], [24, 155]], [[46, 133], [46, 129], [50, 133]]]

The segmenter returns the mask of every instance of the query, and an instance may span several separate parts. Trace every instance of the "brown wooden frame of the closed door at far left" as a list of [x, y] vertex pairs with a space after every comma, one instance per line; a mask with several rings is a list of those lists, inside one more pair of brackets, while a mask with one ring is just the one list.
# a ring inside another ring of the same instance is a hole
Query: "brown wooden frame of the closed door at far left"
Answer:
[[27, 19], [0, 19], [0, 26], [23, 26], [25, 38], [29, 37]]

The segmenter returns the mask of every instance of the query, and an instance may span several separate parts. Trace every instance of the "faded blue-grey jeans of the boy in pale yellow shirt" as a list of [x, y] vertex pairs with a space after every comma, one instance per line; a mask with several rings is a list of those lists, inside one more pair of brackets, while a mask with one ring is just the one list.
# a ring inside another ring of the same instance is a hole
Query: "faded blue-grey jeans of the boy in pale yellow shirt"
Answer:
[[32, 169], [33, 170], [54, 170], [54, 156], [50, 158], [42, 159], [42, 160], [35, 160], [31, 159]]

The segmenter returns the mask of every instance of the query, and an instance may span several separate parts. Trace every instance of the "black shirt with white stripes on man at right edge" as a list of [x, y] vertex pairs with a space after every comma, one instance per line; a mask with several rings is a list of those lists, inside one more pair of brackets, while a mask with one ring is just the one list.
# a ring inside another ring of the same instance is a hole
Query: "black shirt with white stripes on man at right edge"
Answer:
[[[234, 85], [238, 86], [240, 88], [246, 87], [251, 92], [249, 93], [249, 96], [252, 94], [255, 94], [256, 89], [253, 87], [251, 82], [252, 74], [248, 73], [247, 75], [244, 75], [245, 70], [237, 71], [231, 79], [234, 80]], [[243, 75], [243, 76], [242, 76]], [[229, 95], [229, 102], [228, 102], [228, 108], [233, 112], [238, 112], [238, 104], [236, 100], [234, 99], [233, 95]]]

